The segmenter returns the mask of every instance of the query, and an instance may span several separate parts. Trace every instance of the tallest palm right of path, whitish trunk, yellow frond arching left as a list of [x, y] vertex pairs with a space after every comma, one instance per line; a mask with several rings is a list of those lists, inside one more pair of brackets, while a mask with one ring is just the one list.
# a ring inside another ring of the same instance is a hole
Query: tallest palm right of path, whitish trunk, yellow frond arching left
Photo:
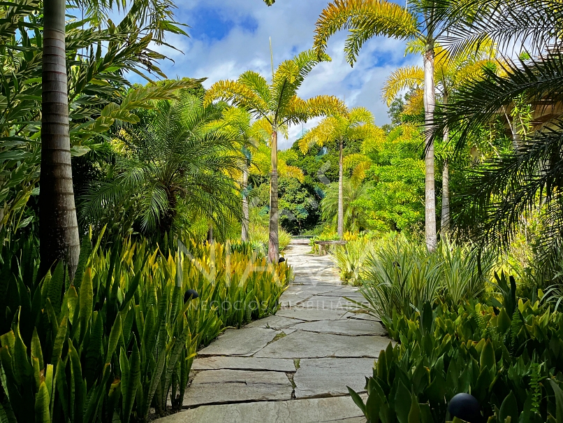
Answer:
[[[450, 0], [416, 0], [403, 8], [386, 0], [342, 0], [330, 3], [316, 22], [314, 50], [322, 55], [328, 38], [341, 29], [349, 29], [344, 51], [349, 64], [356, 62], [362, 45], [377, 35], [404, 40], [418, 40], [425, 46], [424, 109], [425, 123], [434, 120], [434, 47], [437, 39], [448, 29], [450, 15], [445, 12]], [[426, 245], [434, 251], [436, 236], [436, 199], [434, 192], [434, 142], [427, 131], [425, 137], [425, 225]]]

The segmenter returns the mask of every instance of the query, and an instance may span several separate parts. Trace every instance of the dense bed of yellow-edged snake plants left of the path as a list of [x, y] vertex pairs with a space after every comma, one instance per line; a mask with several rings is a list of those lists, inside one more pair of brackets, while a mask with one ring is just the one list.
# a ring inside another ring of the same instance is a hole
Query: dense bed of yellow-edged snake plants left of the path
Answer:
[[291, 278], [244, 245], [98, 247], [82, 244], [74, 281], [61, 264], [37, 280], [30, 242], [3, 255], [1, 422], [145, 422], [169, 396], [179, 409], [198, 347], [275, 313]]

